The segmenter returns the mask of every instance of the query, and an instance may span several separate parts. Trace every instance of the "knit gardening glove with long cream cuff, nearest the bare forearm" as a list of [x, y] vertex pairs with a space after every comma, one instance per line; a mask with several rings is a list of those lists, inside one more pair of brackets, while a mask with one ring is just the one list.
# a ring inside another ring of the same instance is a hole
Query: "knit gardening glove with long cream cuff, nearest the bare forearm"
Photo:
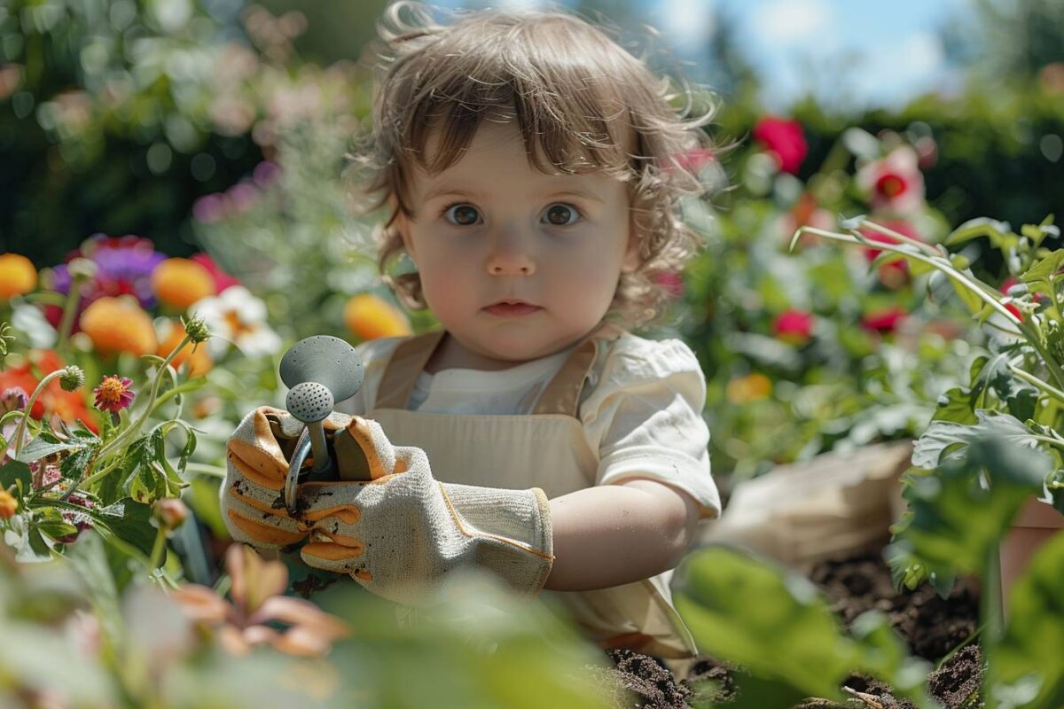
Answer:
[[543, 490], [438, 483], [421, 449], [393, 448], [377, 422], [360, 417], [349, 428], [384, 474], [300, 487], [300, 518], [311, 527], [300, 556], [309, 565], [350, 574], [409, 606], [460, 567], [494, 572], [521, 595], [543, 588], [554, 560]]

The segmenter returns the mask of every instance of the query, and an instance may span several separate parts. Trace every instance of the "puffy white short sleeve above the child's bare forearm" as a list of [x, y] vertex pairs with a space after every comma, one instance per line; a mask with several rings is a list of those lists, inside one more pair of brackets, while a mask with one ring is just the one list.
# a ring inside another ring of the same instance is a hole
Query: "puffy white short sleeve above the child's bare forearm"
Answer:
[[691, 349], [676, 339], [622, 335], [594, 368], [591, 384], [580, 417], [599, 452], [596, 485], [659, 480], [689, 494], [700, 517], [718, 517], [702, 418], [705, 377]]

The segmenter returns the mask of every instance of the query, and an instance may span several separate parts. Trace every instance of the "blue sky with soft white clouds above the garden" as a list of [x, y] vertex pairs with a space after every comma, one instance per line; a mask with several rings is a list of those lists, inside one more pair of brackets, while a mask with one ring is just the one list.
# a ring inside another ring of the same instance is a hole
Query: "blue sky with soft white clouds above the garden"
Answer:
[[[560, 0], [572, 5], [571, 1]], [[947, 66], [937, 30], [964, 18], [970, 0], [633, 0], [644, 21], [663, 32], [712, 83], [702, 48], [719, 14], [736, 20], [748, 60], [765, 83], [762, 99], [785, 109], [812, 91], [826, 103], [898, 106], [928, 91], [950, 92], [960, 77]], [[442, 0], [444, 5], [535, 6], [537, 0]]]

